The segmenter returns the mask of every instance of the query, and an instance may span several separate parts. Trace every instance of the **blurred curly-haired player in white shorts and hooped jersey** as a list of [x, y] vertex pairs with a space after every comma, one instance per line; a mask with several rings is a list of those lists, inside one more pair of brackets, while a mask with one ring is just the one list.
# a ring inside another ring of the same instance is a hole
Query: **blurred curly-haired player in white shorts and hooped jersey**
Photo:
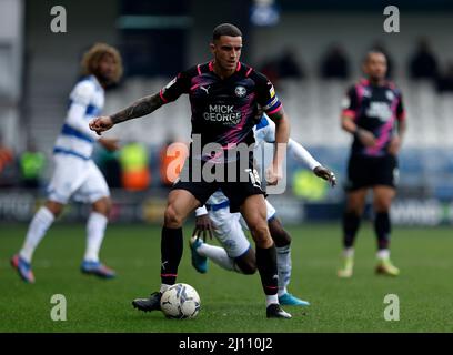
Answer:
[[53, 148], [56, 166], [48, 186], [47, 202], [34, 214], [22, 248], [11, 260], [20, 277], [29, 283], [34, 282], [31, 270], [33, 252], [71, 196], [92, 206], [87, 223], [87, 250], [81, 271], [104, 278], [115, 276], [112, 270], [99, 261], [111, 201], [105, 179], [91, 160], [91, 154], [97, 141], [113, 151], [118, 149], [118, 140], [98, 139], [88, 122], [101, 112], [104, 89], [120, 80], [122, 60], [117, 49], [97, 43], [84, 53], [81, 65], [84, 77], [70, 94], [67, 118]]

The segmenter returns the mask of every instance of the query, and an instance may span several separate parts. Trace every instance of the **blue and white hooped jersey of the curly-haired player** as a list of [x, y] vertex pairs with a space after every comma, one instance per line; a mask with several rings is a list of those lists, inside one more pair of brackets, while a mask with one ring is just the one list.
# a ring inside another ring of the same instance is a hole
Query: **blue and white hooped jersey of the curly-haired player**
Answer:
[[101, 113], [104, 105], [104, 90], [97, 78], [90, 75], [76, 84], [69, 99], [68, 113], [57, 138], [53, 153], [89, 160], [98, 136], [90, 130], [88, 123]]

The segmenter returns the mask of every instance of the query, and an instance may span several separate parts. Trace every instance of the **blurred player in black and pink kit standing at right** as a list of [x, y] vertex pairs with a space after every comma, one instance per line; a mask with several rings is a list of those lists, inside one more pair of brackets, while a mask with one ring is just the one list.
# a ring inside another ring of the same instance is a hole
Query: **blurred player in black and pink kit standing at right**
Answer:
[[342, 128], [354, 140], [348, 164], [346, 207], [343, 215], [343, 265], [339, 277], [351, 277], [354, 240], [373, 190], [374, 230], [378, 236], [376, 273], [397, 276], [390, 260], [390, 206], [397, 182], [397, 153], [406, 129], [401, 91], [385, 80], [386, 59], [379, 51], [366, 54], [363, 71], [368, 79], [352, 87], [344, 99]]

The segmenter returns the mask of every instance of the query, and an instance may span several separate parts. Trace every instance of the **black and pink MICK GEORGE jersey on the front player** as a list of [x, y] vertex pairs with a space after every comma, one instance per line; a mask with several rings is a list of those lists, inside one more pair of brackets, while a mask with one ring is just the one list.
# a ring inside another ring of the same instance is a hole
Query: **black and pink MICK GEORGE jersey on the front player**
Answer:
[[251, 144], [253, 126], [260, 119], [258, 106], [270, 114], [282, 108], [268, 78], [242, 62], [226, 79], [215, 74], [212, 61], [198, 64], [180, 72], [160, 91], [160, 97], [167, 103], [183, 93], [189, 94], [191, 104], [192, 140], [198, 134], [202, 146]]

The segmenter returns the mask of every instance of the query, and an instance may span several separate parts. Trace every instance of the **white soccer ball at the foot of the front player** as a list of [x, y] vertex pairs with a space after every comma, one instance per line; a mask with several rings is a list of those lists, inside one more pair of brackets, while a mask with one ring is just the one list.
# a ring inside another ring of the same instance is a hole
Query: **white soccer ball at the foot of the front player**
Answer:
[[200, 312], [200, 296], [188, 284], [170, 286], [161, 297], [161, 310], [169, 318], [194, 318]]

